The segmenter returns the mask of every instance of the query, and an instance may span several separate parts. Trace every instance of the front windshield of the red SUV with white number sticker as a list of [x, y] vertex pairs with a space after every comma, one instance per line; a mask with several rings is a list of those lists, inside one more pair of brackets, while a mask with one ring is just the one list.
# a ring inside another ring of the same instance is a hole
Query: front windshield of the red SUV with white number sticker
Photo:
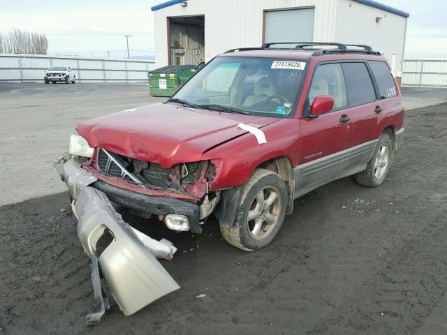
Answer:
[[293, 110], [306, 62], [217, 57], [177, 91], [171, 101], [191, 107], [284, 117]]

